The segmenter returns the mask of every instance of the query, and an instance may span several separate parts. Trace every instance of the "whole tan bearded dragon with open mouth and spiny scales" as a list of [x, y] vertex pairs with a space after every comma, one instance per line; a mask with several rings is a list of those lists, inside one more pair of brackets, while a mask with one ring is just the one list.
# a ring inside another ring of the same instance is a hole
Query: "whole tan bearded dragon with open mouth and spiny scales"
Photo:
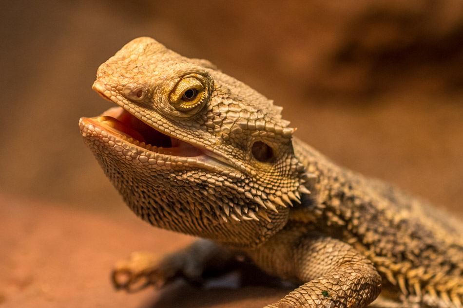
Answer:
[[331, 163], [292, 136], [281, 108], [210, 62], [140, 37], [93, 88], [120, 107], [80, 119], [81, 133], [128, 206], [208, 239], [119, 263], [116, 287], [202, 281], [251, 259], [300, 285], [267, 307], [362, 308], [381, 290], [375, 307], [462, 307], [461, 222]]

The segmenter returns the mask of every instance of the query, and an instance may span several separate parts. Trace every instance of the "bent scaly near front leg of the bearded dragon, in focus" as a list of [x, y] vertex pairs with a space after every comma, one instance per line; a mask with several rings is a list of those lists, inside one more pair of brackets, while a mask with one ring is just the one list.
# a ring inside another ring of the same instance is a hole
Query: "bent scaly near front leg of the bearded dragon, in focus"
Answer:
[[266, 308], [364, 308], [381, 290], [381, 277], [364, 255], [304, 229], [284, 229], [250, 256], [272, 274], [306, 282]]

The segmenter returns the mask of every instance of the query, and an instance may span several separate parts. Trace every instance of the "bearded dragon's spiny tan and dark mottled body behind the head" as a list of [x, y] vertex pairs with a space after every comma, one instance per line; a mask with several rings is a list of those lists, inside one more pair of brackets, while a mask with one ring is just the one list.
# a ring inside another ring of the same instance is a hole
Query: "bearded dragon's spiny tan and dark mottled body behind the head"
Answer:
[[461, 225], [392, 185], [331, 163], [299, 140], [294, 149], [316, 178], [312, 194], [291, 209], [289, 226], [349, 243], [374, 263], [383, 289], [394, 294], [446, 294], [451, 281], [462, 283]]

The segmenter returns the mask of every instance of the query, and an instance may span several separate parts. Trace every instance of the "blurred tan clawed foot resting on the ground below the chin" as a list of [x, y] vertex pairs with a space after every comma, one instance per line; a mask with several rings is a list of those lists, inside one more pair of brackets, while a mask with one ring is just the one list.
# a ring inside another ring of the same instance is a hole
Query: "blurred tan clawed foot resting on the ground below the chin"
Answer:
[[169, 277], [159, 265], [160, 258], [154, 254], [135, 252], [128, 260], [116, 263], [112, 272], [113, 285], [127, 292], [136, 292], [149, 285], [161, 288]]

